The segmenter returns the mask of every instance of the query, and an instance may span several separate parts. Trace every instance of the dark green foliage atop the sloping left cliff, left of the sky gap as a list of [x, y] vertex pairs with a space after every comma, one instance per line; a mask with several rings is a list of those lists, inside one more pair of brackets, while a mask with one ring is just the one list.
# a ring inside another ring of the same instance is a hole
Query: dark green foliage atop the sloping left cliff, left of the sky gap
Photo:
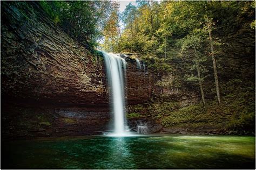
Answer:
[[55, 24], [80, 43], [93, 47], [102, 33], [102, 24], [111, 12], [112, 2], [39, 1]]

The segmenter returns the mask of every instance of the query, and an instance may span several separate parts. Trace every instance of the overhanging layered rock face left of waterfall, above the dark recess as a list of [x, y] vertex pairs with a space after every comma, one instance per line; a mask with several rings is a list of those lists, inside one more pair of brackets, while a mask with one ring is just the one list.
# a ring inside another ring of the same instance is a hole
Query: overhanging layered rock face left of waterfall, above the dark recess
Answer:
[[[106, 104], [103, 59], [37, 11], [4, 3], [2, 93], [34, 102]], [[26, 3], [39, 9], [36, 3]], [[29, 18], [26, 16], [29, 15]]]

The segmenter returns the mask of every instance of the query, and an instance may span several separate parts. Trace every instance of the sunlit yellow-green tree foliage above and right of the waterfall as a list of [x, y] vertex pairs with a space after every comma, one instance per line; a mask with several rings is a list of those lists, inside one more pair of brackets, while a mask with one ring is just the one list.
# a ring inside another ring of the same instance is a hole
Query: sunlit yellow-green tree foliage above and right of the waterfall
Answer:
[[[146, 62], [148, 68], [158, 75], [164, 75], [157, 83], [160, 87], [183, 87], [196, 90], [196, 93], [200, 93], [202, 87], [205, 95], [215, 96], [209, 32], [212, 35], [217, 75], [225, 77], [226, 69], [230, 67], [226, 63], [235, 57], [235, 50], [240, 56], [244, 55], [239, 51], [242, 46], [254, 51], [254, 4], [206, 1], [130, 3], [123, 15], [119, 15], [124, 30], [118, 34], [118, 24], [121, 23], [114, 19], [112, 33], [104, 33], [103, 44], [108, 51], [141, 56], [140, 59]], [[109, 37], [112, 37], [111, 41]], [[240, 40], [241, 37], [251, 37], [251, 43], [247, 44], [247, 39]], [[232, 45], [235, 42], [238, 43]], [[253, 55], [250, 53], [250, 56]], [[237, 69], [235, 65], [238, 63], [228, 69]], [[219, 80], [219, 86], [224, 84], [223, 81], [226, 80]], [[220, 90], [220, 93], [225, 92]]]

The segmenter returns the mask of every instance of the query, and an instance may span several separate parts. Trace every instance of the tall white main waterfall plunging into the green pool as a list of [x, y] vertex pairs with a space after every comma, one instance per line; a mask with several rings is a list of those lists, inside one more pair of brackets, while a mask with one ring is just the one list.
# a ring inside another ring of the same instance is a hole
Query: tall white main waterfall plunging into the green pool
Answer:
[[112, 111], [114, 113], [114, 135], [125, 134], [125, 93], [124, 75], [126, 61], [117, 54], [102, 52], [104, 56], [107, 80], [110, 86]]

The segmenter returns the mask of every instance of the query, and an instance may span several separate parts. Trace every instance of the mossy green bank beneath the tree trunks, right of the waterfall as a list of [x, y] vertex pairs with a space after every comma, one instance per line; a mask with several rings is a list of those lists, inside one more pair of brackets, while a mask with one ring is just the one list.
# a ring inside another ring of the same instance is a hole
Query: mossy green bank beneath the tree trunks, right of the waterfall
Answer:
[[[249, 91], [237, 91], [225, 96], [223, 104], [216, 105], [215, 101], [207, 101], [204, 109], [202, 104], [193, 104], [188, 107], [173, 110], [165, 103], [155, 104], [154, 117], [160, 119], [165, 127], [213, 125], [219, 128], [234, 131], [254, 131], [254, 96]], [[169, 111], [166, 111], [169, 110]], [[159, 116], [161, 115], [161, 116]]]

